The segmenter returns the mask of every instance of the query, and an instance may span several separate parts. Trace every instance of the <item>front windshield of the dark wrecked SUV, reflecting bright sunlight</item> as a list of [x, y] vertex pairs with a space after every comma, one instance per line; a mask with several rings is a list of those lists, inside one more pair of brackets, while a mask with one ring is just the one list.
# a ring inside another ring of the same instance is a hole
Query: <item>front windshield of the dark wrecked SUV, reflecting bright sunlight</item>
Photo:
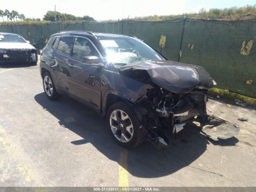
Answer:
[[130, 64], [145, 60], [164, 60], [158, 52], [150, 46], [132, 38], [111, 38], [100, 40], [105, 48], [108, 62]]

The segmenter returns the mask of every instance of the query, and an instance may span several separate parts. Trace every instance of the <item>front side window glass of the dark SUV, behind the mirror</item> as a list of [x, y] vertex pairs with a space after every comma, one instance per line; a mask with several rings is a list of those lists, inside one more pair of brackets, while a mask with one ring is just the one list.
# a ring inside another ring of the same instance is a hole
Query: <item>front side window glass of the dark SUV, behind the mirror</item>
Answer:
[[89, 40], [76, 37], [74, 41], [72, 57], [83, 60], [86, 56], [97, 56], [100, 58], [99, 53]]

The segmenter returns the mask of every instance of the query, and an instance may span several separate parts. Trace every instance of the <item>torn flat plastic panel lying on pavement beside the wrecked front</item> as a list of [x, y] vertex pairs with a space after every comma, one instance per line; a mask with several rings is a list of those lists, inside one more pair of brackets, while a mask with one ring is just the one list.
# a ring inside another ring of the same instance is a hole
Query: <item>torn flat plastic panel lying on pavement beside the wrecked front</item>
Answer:
[[236, 124], [226, 120], [214, 116], [209, 116], [208, 118], [209, 122], [202, 127], [202, 132], [215, 141], [231, 138], [240, 130]]

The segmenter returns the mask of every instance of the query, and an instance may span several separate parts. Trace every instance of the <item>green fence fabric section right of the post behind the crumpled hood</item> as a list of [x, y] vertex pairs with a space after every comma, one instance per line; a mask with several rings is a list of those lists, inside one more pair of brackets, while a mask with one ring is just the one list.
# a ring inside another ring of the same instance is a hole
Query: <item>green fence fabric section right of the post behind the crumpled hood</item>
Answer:
[[[256, 42], [250, 54], [240, 53], [242, 42], [255, 37], [256, 22], [187, 19], [180, 62], [204, 66], [217, 88], [256, 97]], [[253, 80], [251, 84], [247, 84], [249, 80]]]

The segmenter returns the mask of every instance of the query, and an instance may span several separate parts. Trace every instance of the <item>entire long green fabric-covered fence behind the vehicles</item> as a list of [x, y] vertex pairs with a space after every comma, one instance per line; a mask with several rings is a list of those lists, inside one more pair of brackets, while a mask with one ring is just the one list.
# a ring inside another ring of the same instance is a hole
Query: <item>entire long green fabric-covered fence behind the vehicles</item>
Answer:
[[180, 18], [167, 22], [0, 25], [0, 32], [19, 34], [38, 49], [60, 30], [136, 36], [169, 60], [204, 66], [217, 88], [256, 97], [256, 21]]

